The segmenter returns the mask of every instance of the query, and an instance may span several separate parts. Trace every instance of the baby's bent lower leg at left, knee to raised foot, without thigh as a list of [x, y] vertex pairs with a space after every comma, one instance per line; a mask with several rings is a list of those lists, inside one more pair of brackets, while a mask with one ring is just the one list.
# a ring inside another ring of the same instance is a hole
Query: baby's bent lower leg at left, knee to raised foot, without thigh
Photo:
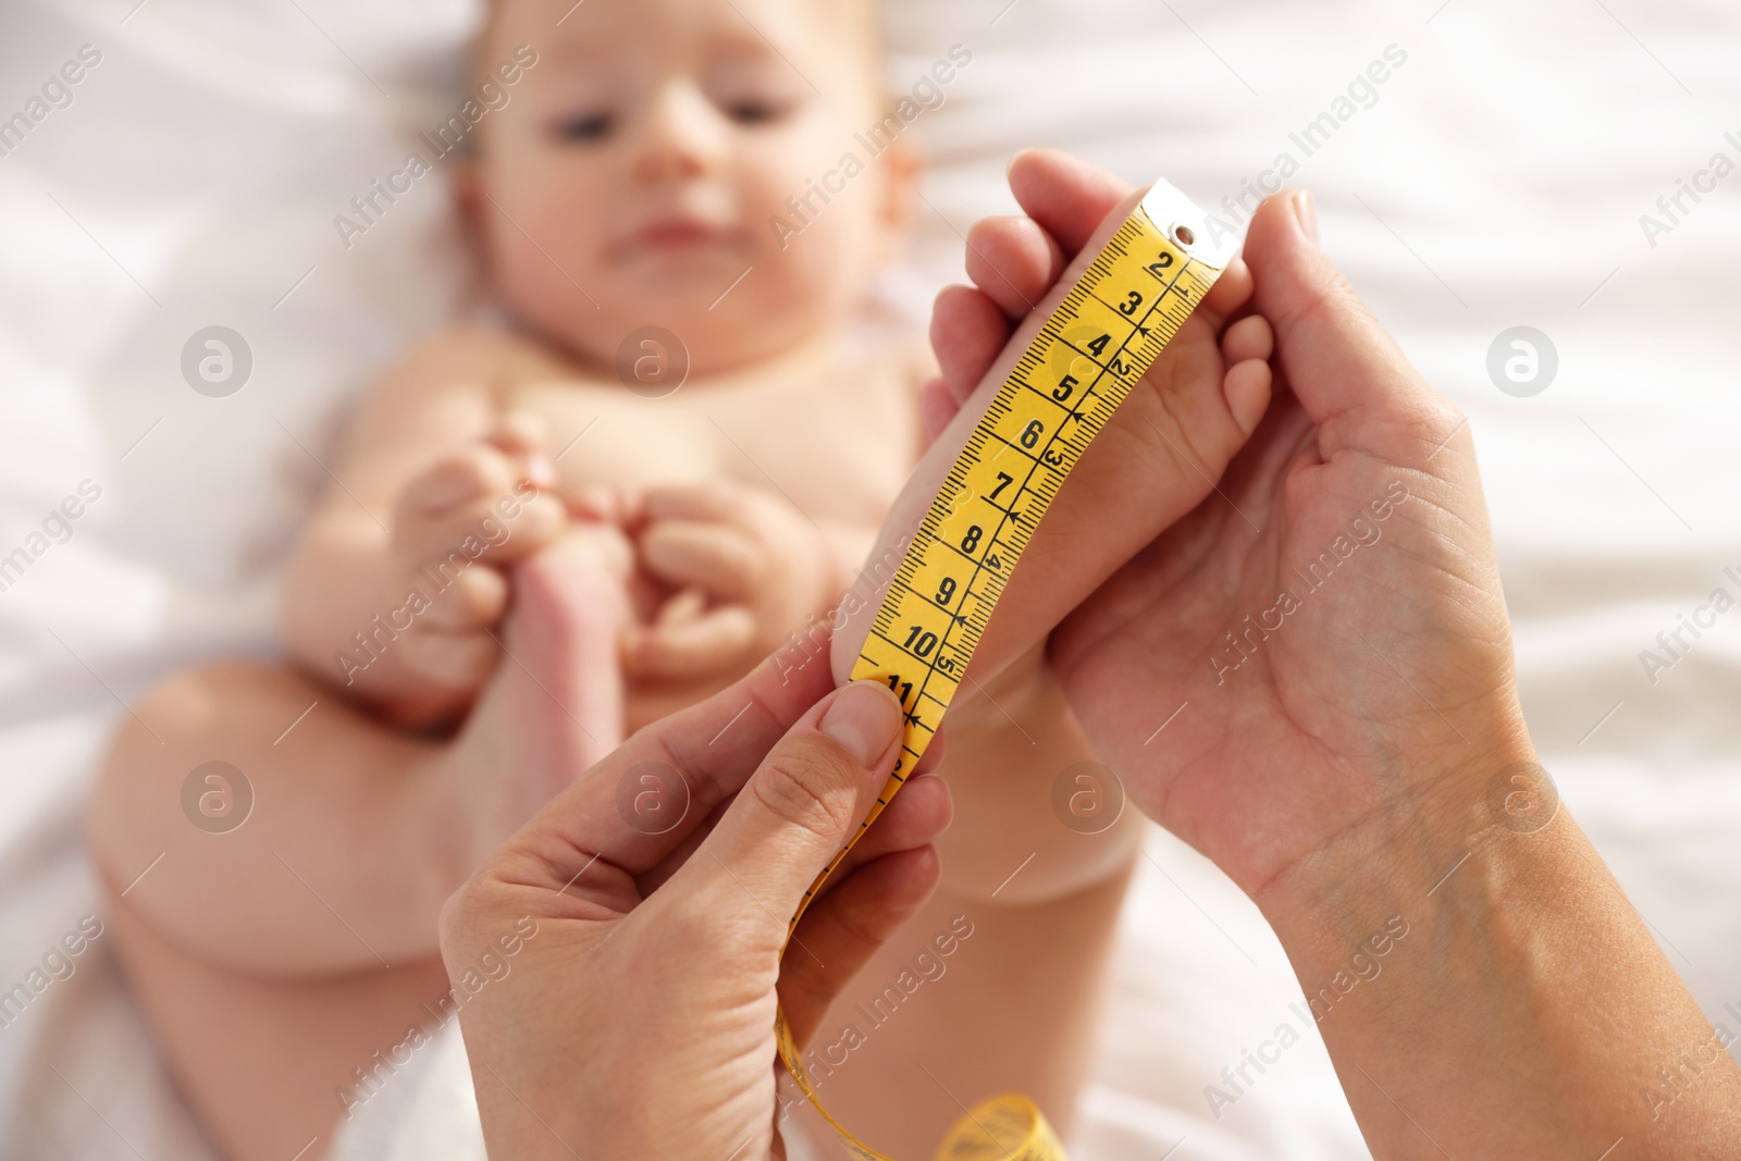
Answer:
[[[620, 740], [615, 567], [590, 533], [521, 566], [507, 656], [446, 743], [273, 668], [209, 667], [158, 688], [125, 721], [91, 806], [120, 905], [190, 956], [258, 975], [434, 956], [447, 895]], [[218, 771], [233, 785], [195, 775], [214, 761], [240, 771]], [[239, 827], [202, 815], [202, 794], [235, 809], [244, 785]]]

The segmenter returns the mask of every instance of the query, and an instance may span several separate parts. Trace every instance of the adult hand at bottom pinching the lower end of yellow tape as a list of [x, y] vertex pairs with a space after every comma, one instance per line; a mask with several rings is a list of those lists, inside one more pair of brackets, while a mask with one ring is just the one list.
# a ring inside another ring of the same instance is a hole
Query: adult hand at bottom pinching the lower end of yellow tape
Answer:
[[486, 952], [510, 964], [460, 1017], [491, 1156], [783, 1156], [776, 997], [803, 1044], [937, 881], [949, 795], [916, 776], [780, 963], [787, 921], [893, 768], [900, 721], [881, 684], [834, 691], [820, 660], [770, 660], [637, 733], [477, 870], [440, 943], [454, 980]]

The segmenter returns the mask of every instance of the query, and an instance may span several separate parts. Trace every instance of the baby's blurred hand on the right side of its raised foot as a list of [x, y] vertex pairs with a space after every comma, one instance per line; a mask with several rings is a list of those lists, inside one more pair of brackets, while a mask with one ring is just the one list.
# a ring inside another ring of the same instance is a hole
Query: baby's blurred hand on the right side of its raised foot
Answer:
[[702, 677], [770, 653], [844, 583], [827, 536], [782, 496], [731, 480], [656, 487], [641, 515], [641, 567], [676, 595], [635, 632], [637, 677]]

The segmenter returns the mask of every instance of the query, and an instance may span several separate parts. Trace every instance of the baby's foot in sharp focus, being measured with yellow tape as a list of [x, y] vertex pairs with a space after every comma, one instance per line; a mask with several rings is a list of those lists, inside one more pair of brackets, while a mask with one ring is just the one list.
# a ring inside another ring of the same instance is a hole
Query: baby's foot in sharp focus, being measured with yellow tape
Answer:
[[[945, 291], [931, 324], [944, 376], [928, 388], [926, 418], [935, 426], [952, 407], [961, 414], [895, 501], [872, 560], [898, 559], [900, 540], [919, 526], [1022, 350], [1137, 204], [1128, 186], [1062, 153], [1020, 155], [1010, 186], [1031, 216], [973, 228], [968, 272], [978, 289]], [[1250, 298], [1252, 273], [1234, 259], [1083, 454], [1003, 590], [970, 670], [978, 682], [1212, 494], [1269, 404], [1269, 322], [1248, 315], [1227, 324]], [[851, 668], [879, 599], [834, 634], [837, 679]]]

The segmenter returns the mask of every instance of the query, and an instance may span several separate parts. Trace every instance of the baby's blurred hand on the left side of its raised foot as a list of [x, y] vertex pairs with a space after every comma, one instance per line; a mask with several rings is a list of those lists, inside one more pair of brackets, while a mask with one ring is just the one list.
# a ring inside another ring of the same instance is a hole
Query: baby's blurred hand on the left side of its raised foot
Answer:
[[[500, 649], [491, 630], [508, 604], [505, 566], [568, 524], [548, 491], [554, 477], [543, 425], [510, 413], [487, 439], [406, 484], [393, 507], [390, 595], [413, 611], [393, 642], [409, 670], [447, 691], [477, 689], [489, 675]], [[407, 602], [411, 592], [425, 601]]]

